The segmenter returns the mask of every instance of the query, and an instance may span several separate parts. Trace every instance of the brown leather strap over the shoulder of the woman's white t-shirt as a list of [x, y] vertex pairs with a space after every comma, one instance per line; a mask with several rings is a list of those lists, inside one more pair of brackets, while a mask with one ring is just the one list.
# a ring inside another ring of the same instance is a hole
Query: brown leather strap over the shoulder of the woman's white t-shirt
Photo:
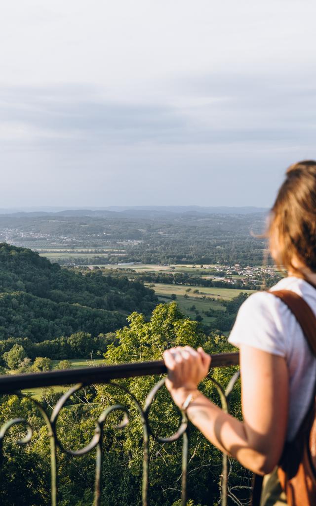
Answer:
[[291, 290], [271, 290], [269, 293], [279, 297], [294, 314], [302, 327], [311, 353], [316, 357], [316, 317], [307, 302]]

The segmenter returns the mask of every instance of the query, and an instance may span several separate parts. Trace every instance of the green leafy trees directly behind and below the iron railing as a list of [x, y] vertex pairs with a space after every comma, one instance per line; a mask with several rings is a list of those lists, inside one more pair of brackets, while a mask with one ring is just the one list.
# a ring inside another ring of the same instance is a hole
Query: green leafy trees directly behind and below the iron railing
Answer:
[[[207, 337], [201, 326], [184, 318], [176, 303], [161, 304], [155, 308], [149, 321], [134, 312], [128, 318], [129, 326], [111, 336], [105, 359], [108, 363], [155, 360], [162, 357], [166, 347], [190, 345], [204, 346], [212, 353], [228, 351], [230, 345], [216, 333]], [[85, 349], [88, 336], [75, 335], [72, 346]], [[213, 375], [223, 387], [233, 374], [230, 369], [216, 369]], [[159, 377], [125, 378], [115, 383], [127, 388], [142, 405]], [[218, 394], [210, 378], [201, 390], [218, 402]], [[50, 414], [61, 393], [43, 389], [41, 403]], [[13, 427], [4, 441], [3, 475], [0, 483], [0, 503], [3, 506], [49, 506], [50, 454], [47, 429], [37, 408], [29, 399], [16, 396], [0, 397], [0, 425], [14, 416], [27, 418], [34, 429], [32, 443], [17, 447], [14, 441], [25, 434], [24, 427]], [[91, 441], [95, 420], [109, 405], [122, 404], [129, 413], [129, 424], [124, 430], [114, 429], [122, 416], [111, 413], [104, 426], [104, 460], [102, 465], [102, 506], [137, 506], [141, 503], [143, 431], [138, 410], [130, 395], [118, 387], [98, 385], [78, 391], [60, 412], [58, 435], [65, 448], [77, 449]], [[240, 413], [240, 387], [234, 390], [231, 410]], [[153, 434], [170, 436], [180, 423], [180, 413], [163, 387], [156, 395], [149, 413]], [[212, 447], [193, 426], [189, 426], [188, 506], [213, 506], [218, 501], [218, 481], [221, 471], [221, 454]], [[179, 499], [182, 440], [158, 443], [150, 439], [150, 504], [170, 506]], [[95, 452], [71, 458], [58, 451], [59, 503], [62, 506], [91, 506], [93, 500]], [[238, 466], [231, 473], [231, 484], [245, 483], [245, 471]], [[247, 482], [248, 484], [248, 482]], [[12, 487], [14, 487], [14, 492]]]

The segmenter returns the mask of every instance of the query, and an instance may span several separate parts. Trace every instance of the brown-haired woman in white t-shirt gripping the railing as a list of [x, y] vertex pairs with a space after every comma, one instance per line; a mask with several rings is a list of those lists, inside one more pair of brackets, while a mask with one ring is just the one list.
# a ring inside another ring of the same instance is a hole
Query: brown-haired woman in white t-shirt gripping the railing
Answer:
[[[288, 168], [267, 235], [273, 259], [288, 271], [272, 290], [294, 291], [316, 314], [316, 161]], [[164, 352], [166, 387], [212, 444], [256, 474], [272, 473], [310, 405], [316, 359], [294, 315], [268, 292], [252, 294], [242, 305], [229, 342], [240, 350], [243, 421], [198, 391], [210, 367], [202, 348]], [[270, 481], [275, 477], [273, 473]], [[281, 489], [279, 499], [286, 504]]]

